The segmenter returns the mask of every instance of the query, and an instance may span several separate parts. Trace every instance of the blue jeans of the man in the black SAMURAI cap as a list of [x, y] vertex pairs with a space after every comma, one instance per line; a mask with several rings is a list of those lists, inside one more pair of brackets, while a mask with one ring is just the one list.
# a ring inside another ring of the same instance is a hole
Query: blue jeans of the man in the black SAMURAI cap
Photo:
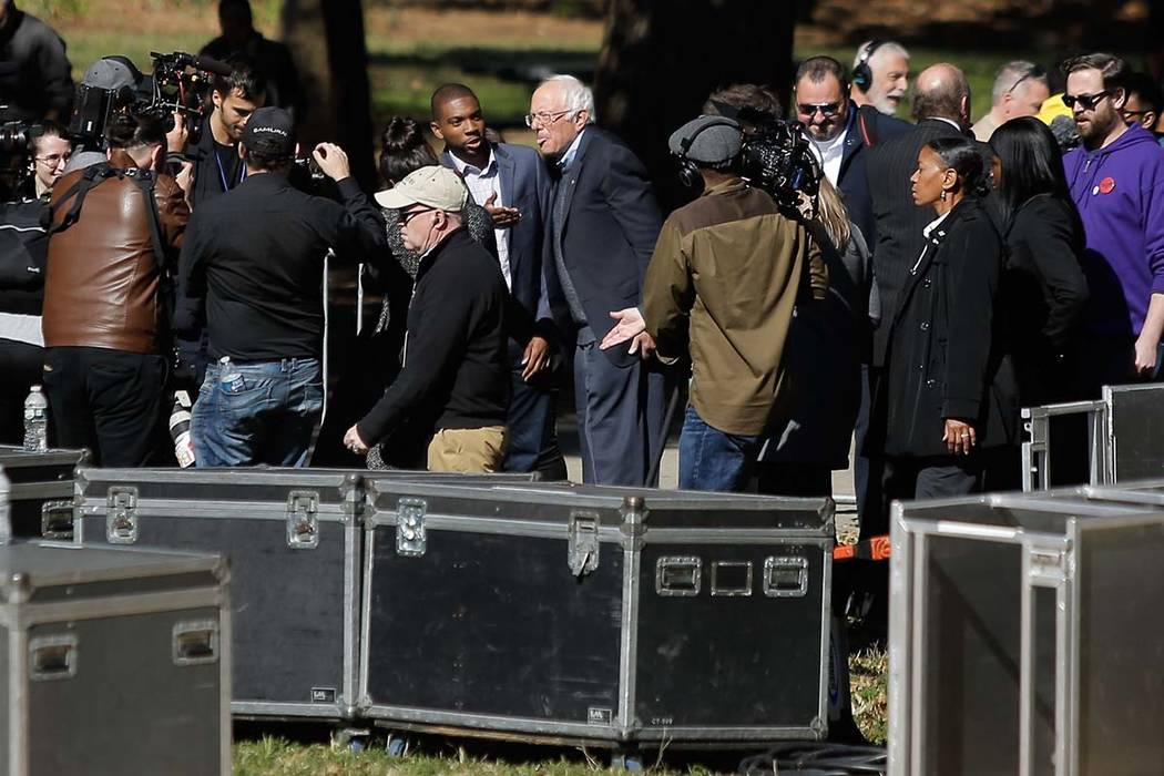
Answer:
[[223, 368], [206, 366], [190, 433], [199, 467], [303, 467], [324, 408], [318, 358], [230, 364], [241, 378], [222, 384]]

